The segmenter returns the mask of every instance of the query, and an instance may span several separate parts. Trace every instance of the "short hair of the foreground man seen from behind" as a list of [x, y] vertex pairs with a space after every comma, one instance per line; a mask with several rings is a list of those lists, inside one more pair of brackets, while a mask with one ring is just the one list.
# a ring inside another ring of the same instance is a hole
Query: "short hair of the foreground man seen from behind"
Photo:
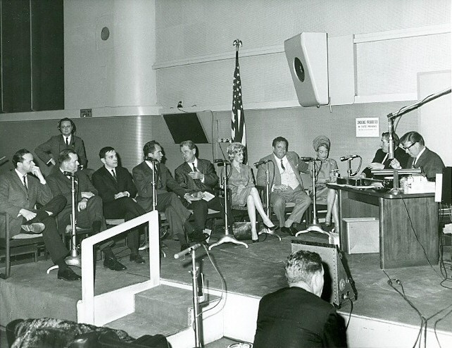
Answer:
[[316, 252], [299, 250], [289, 255], [285, 268], [289, 284], [299, 281], [310, 284], [313, 275], [322, 271], [322, 258]]

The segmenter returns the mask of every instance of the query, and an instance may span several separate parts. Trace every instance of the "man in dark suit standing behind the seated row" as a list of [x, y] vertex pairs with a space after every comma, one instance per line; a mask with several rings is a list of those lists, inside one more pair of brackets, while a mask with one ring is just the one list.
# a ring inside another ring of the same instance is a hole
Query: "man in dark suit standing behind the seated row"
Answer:
[[84, 150], [83, 140], [80, 137], [76, 137], [75, 124], [70, 118], [62, 118], [58, 121], [58, 130], [61, 135], [54, 135], [49, 140], [40, 144], [34, 153], [37, 154], [39, 159], [44, 161], [47, 166], [53, 164], [59, 166], [58, 156], [64, 149], [73, 149], [78, 156], [79, 162], [84, 168], [87, 168], [87, 154]]

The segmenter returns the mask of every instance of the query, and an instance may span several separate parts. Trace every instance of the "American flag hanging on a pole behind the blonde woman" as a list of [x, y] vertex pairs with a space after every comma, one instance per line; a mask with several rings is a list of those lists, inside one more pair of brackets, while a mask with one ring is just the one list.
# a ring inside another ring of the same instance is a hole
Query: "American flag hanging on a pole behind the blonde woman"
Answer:
[[[241, 142], [246, 147], [245, 115], [241, 104], [241, 80], [239, 69], [239, 51], [235, 52], [234, 80], [232, 82], [232, 142]], [[244, 151], [246, 162], [246, 149]]]

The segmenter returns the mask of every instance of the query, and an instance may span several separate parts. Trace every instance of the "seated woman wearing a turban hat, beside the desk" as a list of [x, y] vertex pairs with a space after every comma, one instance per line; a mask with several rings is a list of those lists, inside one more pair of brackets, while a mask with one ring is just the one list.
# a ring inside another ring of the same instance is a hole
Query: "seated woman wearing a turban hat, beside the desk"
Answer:
[[[334, 220], [334, 232], [339, 232], [339, 206], [337, 192], [335, 189], [327, 187], [330, 182], [330, 173], [337, 170], [337, 163], [334, 159], [329, 159], [329, 139], [325, 135], [319, 135], [313, 140], [313, 148], [317, 153], [315, 161], [317, 168], [317, 181], [315, 182], [315, 202], [318, 204], [327, 204], [327, 216], [325, 225], [331, 225], [331, 218]], [[320, 165], [319, 165], [320, 161]], [[309, 163], [309, 173], [313, 173], [313, 162]]]

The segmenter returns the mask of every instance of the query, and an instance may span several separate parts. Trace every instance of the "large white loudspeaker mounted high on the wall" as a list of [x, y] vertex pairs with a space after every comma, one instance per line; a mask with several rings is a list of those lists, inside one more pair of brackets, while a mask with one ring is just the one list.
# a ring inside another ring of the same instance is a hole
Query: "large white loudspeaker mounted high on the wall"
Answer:
[[284, 51], [300, 105], [327, 105], [327, 33], [302, 32], [284, 41]]

